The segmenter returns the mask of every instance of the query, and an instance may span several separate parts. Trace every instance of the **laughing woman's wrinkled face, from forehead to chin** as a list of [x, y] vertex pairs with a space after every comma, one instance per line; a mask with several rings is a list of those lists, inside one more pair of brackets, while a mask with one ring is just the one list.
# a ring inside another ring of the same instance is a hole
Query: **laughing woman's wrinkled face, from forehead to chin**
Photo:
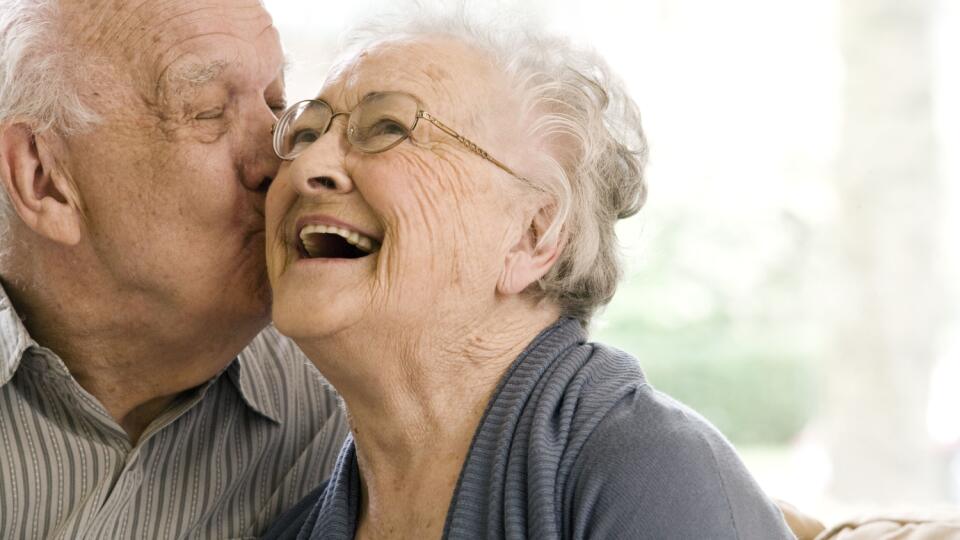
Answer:
[[[481, 55], [431, 38], [361, 53], [328, 79], [319, 98], [346, 112], [374, 92], [410, 94], [517, 167], [517, 115], [503, 88], [502, 75]], [[422, 334], [482, 317], [495, 301], [504, 258], [524, 232], [519, 182], [427, 121], [376, 154], [353, 147], [346, 124], [346, 115], [337, 116], [285, 162], [267, 196], [277, 327], [304, 339], [344, 329]]]

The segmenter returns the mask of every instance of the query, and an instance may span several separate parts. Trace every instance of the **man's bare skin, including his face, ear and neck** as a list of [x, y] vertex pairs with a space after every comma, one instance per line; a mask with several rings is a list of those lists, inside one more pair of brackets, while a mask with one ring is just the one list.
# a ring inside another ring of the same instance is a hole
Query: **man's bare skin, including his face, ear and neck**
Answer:
[[3, 130], [21, 217], [3, 277], [32, 336], [136, 441], [269, 321], [282, 51], [256, 0], [62, 10], [57, 46], [79, 51], [69, 76], [101, 122], [35, 145]]

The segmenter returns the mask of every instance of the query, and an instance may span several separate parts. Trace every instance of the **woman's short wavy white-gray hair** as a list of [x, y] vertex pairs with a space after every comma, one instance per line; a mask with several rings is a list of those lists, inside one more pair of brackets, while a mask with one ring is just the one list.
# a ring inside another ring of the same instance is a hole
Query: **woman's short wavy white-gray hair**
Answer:
[[[541, 242], [566, 237], [553, 268], [530, 292], [584, 326], [622, 276], [614, 226], [646, 199], [647, 144], [636, 104], [596, 52], [515, 23], [474, 22], [456, 13], [409, 10], [345, 35], [349, 52], [377, 43], [447, 36], [487, 54], [507, 75], [529, 120], [526, 140], [544, 150], [529, 177], [555, 206]], [[349, 56], [348, 56], [349, 57]]]

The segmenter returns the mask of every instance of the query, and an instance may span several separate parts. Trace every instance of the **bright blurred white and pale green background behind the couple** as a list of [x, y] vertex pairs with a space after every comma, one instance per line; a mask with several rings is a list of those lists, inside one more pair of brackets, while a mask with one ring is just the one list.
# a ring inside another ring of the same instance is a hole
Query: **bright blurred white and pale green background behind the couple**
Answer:
[[[291, 102], [398, 8], [265, 4]], [[644, 113], [649, 202], [593, 337], [825, 523], [958, 505], [960, 1], [470, 5], [596, 48]]]

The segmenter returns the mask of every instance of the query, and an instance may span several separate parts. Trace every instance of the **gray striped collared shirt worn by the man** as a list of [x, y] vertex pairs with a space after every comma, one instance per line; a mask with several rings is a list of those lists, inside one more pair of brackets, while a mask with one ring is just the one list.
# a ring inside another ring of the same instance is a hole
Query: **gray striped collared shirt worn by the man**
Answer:
[[255, 538], [329, 475], [347, 431], [270, 328], [131, 446], [0, 288], [0, 538]]

